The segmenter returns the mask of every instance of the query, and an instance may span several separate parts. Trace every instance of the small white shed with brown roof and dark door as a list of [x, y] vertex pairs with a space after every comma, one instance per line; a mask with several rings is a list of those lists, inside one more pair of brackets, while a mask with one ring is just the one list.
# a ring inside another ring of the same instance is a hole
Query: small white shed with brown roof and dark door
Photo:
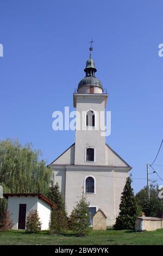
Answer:
[[41, 193], [3, 194], [8, 199], [8, 210], [14, 224], [12, 229], [26, 229], [27, 215], [37, 210], [42, 223], [41, 230], [49, 229], [51, 208], [54, 203]]

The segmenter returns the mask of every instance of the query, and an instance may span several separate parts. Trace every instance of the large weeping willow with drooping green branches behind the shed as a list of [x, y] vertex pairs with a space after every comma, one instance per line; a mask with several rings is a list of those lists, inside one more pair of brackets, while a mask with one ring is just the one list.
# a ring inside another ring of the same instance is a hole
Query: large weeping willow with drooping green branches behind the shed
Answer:
[[0, 141], [0, 185], [4, 193], [46, 194], [50, 169], [40, 157], [40, 150], [33, 150], [32, 144], [23, 147], [17, 140]]

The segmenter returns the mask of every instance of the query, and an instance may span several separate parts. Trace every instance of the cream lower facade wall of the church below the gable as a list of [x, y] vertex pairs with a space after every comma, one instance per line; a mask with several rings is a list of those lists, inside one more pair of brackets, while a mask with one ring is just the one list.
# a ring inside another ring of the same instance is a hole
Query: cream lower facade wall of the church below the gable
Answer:
[[80, 167], [66, 170], [66, 208], [68, 215], [73, 206], [82, 196], [85, 177], [90, 174], [96, 179], [96, 194], [87, 193], [87, 201], [90, 206], [97, 206], [107, 216], [107, 225], [115, 223], [118, 216], [121, 193], [126, 183], [128, 170], [86, 169]]

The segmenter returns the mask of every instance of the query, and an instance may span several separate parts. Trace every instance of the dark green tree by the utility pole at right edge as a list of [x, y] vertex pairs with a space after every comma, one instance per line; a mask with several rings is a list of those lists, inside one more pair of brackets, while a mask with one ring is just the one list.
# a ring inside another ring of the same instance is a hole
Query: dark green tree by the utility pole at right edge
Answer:
[[135, 196], [136, 202], [146, 216], [157, 217], [158, 214], [163, 212], [163, 202], [158, 197], [158, 184], [155, 181], [149, 187], [149, 194], [148, 199], [148, 188], [147, 186], [143, 187]]

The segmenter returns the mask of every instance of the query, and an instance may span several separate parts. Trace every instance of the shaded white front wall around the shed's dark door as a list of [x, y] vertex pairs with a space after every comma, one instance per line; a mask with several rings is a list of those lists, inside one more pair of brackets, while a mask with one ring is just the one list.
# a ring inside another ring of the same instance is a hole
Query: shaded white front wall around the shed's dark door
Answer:
[[38, 197], [9, 197], [8, 198], [8, 209], [11, 215], [11, 220], [14, 223], [12, 229], [18, 229], [18, 214], [19, 205], [26, 205], [26, 218], [30, 210], [37, 210], [37, 199]]

